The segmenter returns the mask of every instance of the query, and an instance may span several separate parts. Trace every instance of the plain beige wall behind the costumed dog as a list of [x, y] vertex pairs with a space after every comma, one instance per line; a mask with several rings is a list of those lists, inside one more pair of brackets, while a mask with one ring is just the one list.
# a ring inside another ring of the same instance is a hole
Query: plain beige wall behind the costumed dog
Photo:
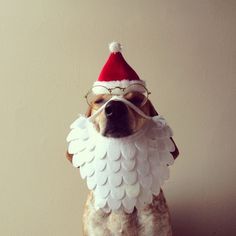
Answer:
[[236, 1], [1, 0], [0, 16], [0, 235], [82, 235], [65, 138], [112, 40], [174, 129], [175, 235], [236, 235]]

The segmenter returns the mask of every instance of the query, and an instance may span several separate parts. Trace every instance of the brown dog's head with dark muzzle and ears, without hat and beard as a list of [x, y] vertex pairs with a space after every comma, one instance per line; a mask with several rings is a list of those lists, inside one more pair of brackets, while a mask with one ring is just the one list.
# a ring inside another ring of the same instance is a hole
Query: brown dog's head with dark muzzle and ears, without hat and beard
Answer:
[[[132, 135], [142, 129], [147, 120], [139, 115], [135, 110], [130, 108], [122, 101], [111, 100], [110, 94], [99, 94], [89, 101], [87, 117], [93, 115], [105, 103], [105, 108], [94, 119], [96, 130], [103, 136], [112, 138], [121, 138]], [[147, 116], [158, 115], [150, 100], [143, 94], [133, 91], [127, 93], [124, 98], [138, 107]], [[173, 139], [171, 138], [174, 143]], [[174, 143], [175, 145], [175, 143]], [[179, 154], [175, 145], [175, 151], [172, 152], [174, 158]], [[68, 159], [71, 160], [68, 155]]]

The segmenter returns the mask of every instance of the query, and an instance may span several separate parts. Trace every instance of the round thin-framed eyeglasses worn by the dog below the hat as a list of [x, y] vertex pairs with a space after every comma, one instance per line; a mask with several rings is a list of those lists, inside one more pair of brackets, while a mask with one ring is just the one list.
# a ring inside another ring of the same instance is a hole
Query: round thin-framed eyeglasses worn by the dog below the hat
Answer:
[[142, 84], [132, 84], [126, 88], [107, 88], [105, 86], [95, 85], [88, 91], [85, 98], [88, 105], [93, 106], [94, 109], [101, 107], [112, 96], [122, 96], [135, 106], [142, 107], [147, 102], [150, 94], [151, 92]]

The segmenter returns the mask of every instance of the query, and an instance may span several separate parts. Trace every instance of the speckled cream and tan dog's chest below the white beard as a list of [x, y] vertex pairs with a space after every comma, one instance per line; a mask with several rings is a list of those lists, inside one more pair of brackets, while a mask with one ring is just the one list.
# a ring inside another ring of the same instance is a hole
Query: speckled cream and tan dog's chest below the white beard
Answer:
[[172, 235], [170, 215], [163, 195], [155, 197], [152, 204], [132, 214], [96, 211], [92, 194], [84, 213], [84, 234], [87, 236], [146, 236]]

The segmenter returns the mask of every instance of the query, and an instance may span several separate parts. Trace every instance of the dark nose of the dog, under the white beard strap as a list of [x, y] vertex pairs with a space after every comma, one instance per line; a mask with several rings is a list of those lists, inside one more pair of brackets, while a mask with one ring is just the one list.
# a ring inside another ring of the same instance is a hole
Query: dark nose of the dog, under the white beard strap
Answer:
[[128, 109], [123, 102], [110, 101], [105, 107], [107, 119], [118, 119], [126, 116]]

